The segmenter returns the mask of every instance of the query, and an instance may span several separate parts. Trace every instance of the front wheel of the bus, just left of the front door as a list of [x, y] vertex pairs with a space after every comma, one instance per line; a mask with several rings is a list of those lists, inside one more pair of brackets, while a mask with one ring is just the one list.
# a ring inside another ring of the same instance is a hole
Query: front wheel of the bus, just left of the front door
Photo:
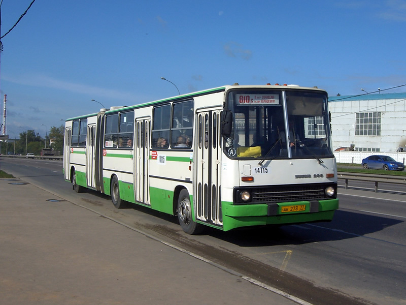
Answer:
[[178, 198], [178, 219], [179, 223], [187, 234], [199, 234], [203, 231], [204, 227], [193, 221], [192, 206], [190, 203], [190, 197], [187, 190], [183, 189], [179, 193]]

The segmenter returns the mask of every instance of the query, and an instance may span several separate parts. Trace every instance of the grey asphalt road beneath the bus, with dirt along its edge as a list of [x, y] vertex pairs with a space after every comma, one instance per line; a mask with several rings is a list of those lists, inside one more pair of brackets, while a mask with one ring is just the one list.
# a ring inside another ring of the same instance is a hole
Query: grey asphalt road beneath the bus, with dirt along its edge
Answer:
[[406, 303], [402, 194], [340, 188], [340, 209], [330, 223], [189, 236], [174, 217], [138, 206], [117, 210], [93, 191], [76, 194], [63, 180], [61, 162], [1, 162], [3, 170], [69, 202], [311, 304]]

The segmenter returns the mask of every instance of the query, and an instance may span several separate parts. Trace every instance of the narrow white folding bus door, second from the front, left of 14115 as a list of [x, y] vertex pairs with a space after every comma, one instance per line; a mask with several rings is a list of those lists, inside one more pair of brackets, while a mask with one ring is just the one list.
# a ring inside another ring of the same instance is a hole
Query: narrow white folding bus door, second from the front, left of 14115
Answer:
[[136, 119], [136, 143], [134, 145], [134, 194], [136, 201], [150, 205], [149, 200], [149, 130], [150, 119]]

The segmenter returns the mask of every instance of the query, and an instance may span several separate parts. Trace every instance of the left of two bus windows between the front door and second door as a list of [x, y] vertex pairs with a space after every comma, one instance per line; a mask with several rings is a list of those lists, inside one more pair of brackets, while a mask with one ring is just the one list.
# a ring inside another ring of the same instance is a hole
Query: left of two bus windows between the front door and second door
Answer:
[[152, 116], [152, 148], [168, 148], [171, 118], [171, 105], [155, 107]]

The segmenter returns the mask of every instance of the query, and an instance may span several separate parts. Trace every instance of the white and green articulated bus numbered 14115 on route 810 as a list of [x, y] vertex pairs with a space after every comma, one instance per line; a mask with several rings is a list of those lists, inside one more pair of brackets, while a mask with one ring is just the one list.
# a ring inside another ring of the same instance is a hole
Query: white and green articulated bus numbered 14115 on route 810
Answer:
[[177, 215], [188, 234], [331, 221], [330, 134], [324, 90], [236, 83], [67, 119], [64, 178]]

